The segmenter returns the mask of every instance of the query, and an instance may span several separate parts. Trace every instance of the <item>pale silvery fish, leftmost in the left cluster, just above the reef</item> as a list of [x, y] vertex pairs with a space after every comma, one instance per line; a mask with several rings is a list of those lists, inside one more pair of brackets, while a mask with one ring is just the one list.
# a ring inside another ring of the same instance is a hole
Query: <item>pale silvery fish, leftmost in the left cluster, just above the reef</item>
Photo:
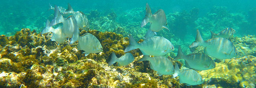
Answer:
[[64, 33], [62, 33], [63, 28], [58, 27], [58, 28], [54, 29], [53, 27], [50, 27], [49, 24], [50, 24], [50, 21], [47, 19], [46, 27], [41, 32], [41, 34], [52, 32], [52, 38], [51, 38], [52, 41], [57, 41], [58, 45], [64, 43], [66, 40], [66, 35]]

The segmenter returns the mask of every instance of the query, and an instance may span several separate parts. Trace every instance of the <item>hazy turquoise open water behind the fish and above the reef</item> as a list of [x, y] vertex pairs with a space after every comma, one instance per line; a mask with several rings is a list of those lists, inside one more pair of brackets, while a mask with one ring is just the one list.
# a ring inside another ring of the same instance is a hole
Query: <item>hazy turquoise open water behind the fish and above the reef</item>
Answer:
[[[54, 10], [49, 9], [49, 3], [52, 6], [57, 5], [65, 9], [70, 3], [74, 11], [85, 13], [90, 29], [103, 32], [111, 31], [122, 34], [124, 37], [132, 34], [136, 41], [143, 39], [150, 27], [150, 24], [141, 27], [141, 21], [145, 17], [145, 5], [149, 3], [152, 13], [163, 9], [167, 17], [169, 31], [163, 29], [156, 35], [168, 39], [175, 46], [175, 50], [165, 56], [171, 57], [177, 54], [177, 47], [180, 45], [185, 55], [191, 53], [188, 46], [195, 40], [196, 29], [199, 29], [202, 38], [207, 40], [211, 37], [210, 30], [219, 33], [229, 27], [236, 30], [234, 36], [229, 40], [235, 42], [234, 45], [240, 53], [239, 59], [232, 60], [238, 60], [235, 63], [242, 64], [250, 61], [243, 62], [247, 59], [240, 57], [248, 55], [256, 57], [256, 48], [253, 47], [256, 46], [256, 0], [5, 0], [0, 2], [0, 8], [2, 8], [0, 35], [13, 36], [16, 31], [23, 28], [40, 33], [45, 27], [46, 20], [54, 18]], [[104, 25], [105, 22], [109, 22], [109, 27]], [[119, 28], [123, 28], [123, 30], [117, 30]], [[252, 36], [248, 38], [247, 35]], [[239, 40], [239, 38], [242, 39]], [[226, 62], [232, 62], [232, 60]], [[255, 58], [250, 60], [255, 62]], [[184, 61], [181, 62], [184, 63]], [[215, 60], [215, 62], [218, 61]], [[254, 68], [252, 66], [252, 69], [255, 71], [255, 66]], [[247, 74], [246, 70], [243, 69], [240, 74]], [[204, 72], [200, 74], [204, 74]], [[255, 80], [255, 77], [251, 78]], [[243, 81], [248, 81], [248, 79], [243, 79]], [[255, 86], [253, 81], [248, 82]], [[216, 83], [218, 82], [213, 82], [213, 84]], [[212, 85], [212, 83], [207, 82], [207, 85]], [[232, 88], [232, 86], [229, 87]]]

